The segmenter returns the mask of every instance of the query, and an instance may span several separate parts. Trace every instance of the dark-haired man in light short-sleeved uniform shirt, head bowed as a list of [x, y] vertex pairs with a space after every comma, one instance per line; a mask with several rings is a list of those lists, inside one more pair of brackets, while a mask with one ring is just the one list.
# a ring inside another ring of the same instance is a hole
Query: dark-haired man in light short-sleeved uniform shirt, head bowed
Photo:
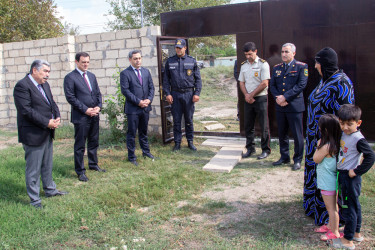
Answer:
[[258, 116], [261, 127], [261, 148], [262, 153], [257, 157], [258, 160], [268, 157], [271, 153], [270, 134], [268, 129], [268, 102], [267, 89], [270, 79], [270, 66], [257, 56], [255, 43], [247, 42], [243, 51], [246, 61], [242, 63], [240, 76], [240, 88], [245, 96], [245, 134], [246, 134], [246, 153], [243, 158], [250, 157], [255, 153], [254, 143], [254, 125]]

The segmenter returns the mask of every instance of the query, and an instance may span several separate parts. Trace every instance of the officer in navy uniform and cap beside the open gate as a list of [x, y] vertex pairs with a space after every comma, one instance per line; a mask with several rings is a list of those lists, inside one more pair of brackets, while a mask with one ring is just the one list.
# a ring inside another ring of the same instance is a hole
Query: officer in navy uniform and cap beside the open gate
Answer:
[[196, 151], [193, 144], [194, 103], [199, 101], [202, 81], [196, 60], [186, 55], [186, 41], [177, 39], [176, 55], [168, 58], [165, 64], [163, 91], [166, 100], [172, 105], [173, 135], [175, 146], [173, 151], [180, 150], [182, 131], [181, 119], [185, 119], [185, 132], [188, 147]]

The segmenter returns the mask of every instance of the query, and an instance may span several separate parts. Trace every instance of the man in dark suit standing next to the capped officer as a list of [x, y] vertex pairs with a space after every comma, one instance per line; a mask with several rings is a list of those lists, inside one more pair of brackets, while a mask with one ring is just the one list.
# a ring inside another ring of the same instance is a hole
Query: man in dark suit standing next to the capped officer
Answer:
[[154, 98], [154, 83], [150, 71], [141, 67], [142, 54], [140, 50], [129, 52], [130, 66], [120, 74], [121, 92], [126, 97], [125, 114], [128, 119], [126, 146], [129, 161], [138, 166], [135, 156], [135, 135], [138, 129], [139, 144], [143, 157], [154, 160], [150, 153], [147, 139], [147, 126], [151, 102]]

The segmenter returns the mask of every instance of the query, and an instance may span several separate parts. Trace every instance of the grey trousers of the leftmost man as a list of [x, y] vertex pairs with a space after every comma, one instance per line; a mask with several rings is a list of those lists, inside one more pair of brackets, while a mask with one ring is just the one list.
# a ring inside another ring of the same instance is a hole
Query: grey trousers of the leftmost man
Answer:
[[46, 141], [39, 146], [22, 145], [26, 161], [26, 191], [31, 200], [30, 204], [35, 206], [41, 203], [40, 177], [42, 177], [43, 190], [46, 195], [53, 196], [57, 192], [56, 184], [52, 179], [53, 142], [48, 136]]

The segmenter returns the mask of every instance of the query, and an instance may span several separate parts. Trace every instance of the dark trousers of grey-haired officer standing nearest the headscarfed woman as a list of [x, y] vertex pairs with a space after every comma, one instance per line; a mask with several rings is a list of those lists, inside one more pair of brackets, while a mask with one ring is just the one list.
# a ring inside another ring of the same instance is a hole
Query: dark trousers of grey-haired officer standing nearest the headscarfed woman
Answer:
[[303, 112], [276, 111], [277, 130], [279, 133], [280, 155], [282, 160], [290, 160], [288, 130], [294, 139], [294, 163], [301, 163], [303, 157], [304, 137], [302, 128]]

